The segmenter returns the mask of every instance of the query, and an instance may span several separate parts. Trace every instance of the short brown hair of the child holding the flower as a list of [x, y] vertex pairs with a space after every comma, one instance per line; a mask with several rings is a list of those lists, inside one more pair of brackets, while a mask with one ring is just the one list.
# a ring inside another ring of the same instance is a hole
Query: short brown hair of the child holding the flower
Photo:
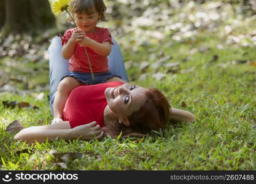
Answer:
[[86, 13], [91, 15], [93, 13], [93, 8], [101, 15], [99, 21], [107, 21], [104, 12], [106, 11], [106, 6], [103, 0], [74, 0], [71, 1], [71, 12], [72, 13]]

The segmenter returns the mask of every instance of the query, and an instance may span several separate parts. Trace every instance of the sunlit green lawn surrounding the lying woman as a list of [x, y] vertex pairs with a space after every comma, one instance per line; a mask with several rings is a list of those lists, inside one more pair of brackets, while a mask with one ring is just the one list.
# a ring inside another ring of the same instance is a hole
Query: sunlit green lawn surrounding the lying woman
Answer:
[[[238, 26], [233, 35], [250, 34], [248, 27]], [[225, 26], [225, 25], [223, 25]], [[223, 29], [223, 28], [220, 28]], [[0, 104], [0, 170], [255, 170], [256, 169], [256, 47], [227, 44], [227, 37], [207, 31], [193, 38], [151, 39], [147, 44], [133, 43], [131, 34], [118, 37], [128, 67], [131, 83], [159, 88], [172, 107], [196, 115], [193, 123], [169, 125], [155, 136], [140, 139], [101, 141], [54, 141], [45, 144], [16, 142], [6, 126], [14, 120], [25, 126], [47, 125], [52, 120], [48, 106], [48, 63], [29, 63], [23, 58], [1, 58], [1, 70], [10, 77], [16, 90], [2, 91], [1, 101], [29, 102], [39, 109], [6, 108]], [[221, 47], [220, 47], [221, 45]], [[153, 63], [169, 56], [157, 69]], [[148, 74], [140, 80], [140, 64], [147, 61]], [[16, 62], [16, 64], [12, 64]], [[128, 66], [128, 63], [129, 66]], [[179, 63], [166, 67], [167, 63]], [[31, 72], [28, 69], [33, 68]], [[165, 77], [155, 79], [161, 72]], [[25, 77], [25, 83], [15, 79]], [[43, 87], [42, 87], [43, 86]], [[43, 92], [44, 98], [38, 99]], [[66, 164], [49, 152], [82, 153]]]

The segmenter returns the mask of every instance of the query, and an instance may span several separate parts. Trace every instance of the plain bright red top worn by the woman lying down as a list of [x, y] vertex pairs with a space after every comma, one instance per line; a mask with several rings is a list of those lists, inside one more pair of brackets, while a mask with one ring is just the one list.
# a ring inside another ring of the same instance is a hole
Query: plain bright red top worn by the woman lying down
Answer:
[[107, 82], [96, 85], [81, 85], [71, 91], [63, 110], [63, 120], [71, 128], [96, 121], [104, 126], [104, 109], [107, 105], [106, 88], [122, 85], [122, 82]]

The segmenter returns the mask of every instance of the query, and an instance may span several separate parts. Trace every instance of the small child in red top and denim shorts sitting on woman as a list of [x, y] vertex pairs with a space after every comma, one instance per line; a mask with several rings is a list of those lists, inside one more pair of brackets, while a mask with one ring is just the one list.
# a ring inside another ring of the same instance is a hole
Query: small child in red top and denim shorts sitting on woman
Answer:
[[[111, 34], [107, 28], [97, 27], [106, 21], [103, 0], [74, 0], [71, 13], [78, 29], [68, 29], [61, 37], [63, 58], [69, 59], [69, 74], [58, 85], [53, 104], [52, 123], [63, 121], [63, 109], [71, 91], [79, 85], [93, 85], [111, 81], [125, 82], [109, 72], [107, 56], [111, 52]], [[84, 50], [88, 51], [95, 79], [91, 79], [90, 66]]]

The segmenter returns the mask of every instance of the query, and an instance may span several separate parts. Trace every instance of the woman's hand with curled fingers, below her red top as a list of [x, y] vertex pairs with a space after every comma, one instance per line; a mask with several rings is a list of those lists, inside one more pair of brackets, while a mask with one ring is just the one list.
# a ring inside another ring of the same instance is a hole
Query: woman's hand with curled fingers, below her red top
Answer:
[[76, 126], [71, 129], [71, 137], [72, 139], [83, 139], [83, 140], [91, 140], [91, 139], [101, 139], [103, 137], [103, 131], [101, 131], [100, 126], [96, 125], [96, 121], [88, 123], [86, 125]]

